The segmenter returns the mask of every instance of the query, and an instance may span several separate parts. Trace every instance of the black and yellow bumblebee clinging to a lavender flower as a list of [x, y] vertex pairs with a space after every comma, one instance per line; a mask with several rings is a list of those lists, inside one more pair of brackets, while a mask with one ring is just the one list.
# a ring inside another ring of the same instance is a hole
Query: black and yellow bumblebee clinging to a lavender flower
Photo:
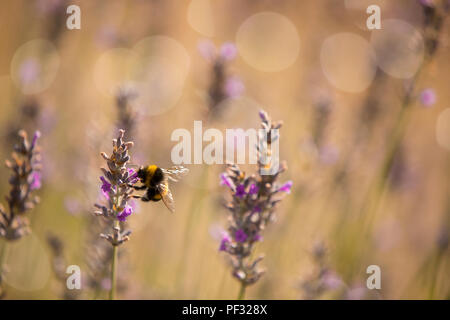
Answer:
[[169, 180], [177, 182], [188, 171], [182, 166], [174, 166], [169, 169], [162, 169], [156, 165], [141, 166], [137, 177], [142, 185], [130, 185], [130, 187], [135, 190], [146, 190], [146, 192], [142, 196], [133, 197], [145, 202], [162, 200], [171, 212], [175, 212], [175, 202], [169, 189]]

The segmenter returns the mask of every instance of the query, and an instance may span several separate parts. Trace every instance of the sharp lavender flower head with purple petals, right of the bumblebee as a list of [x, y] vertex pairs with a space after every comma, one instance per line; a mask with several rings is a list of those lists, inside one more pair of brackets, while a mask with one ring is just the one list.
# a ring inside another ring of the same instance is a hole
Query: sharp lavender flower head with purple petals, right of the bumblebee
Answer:
[[[266, 112], [260, 112], [262, 129], [270, 132], [279, 129], [281, 123], [272, 123]], [[258, 159], [265, 157], [271, 150], [271, 143], [278, 137], [267, 137], [265, 143], [258, 143]], [[261, 141], [260, 141], [261, 142]], [[231, 200], [227, 202], [229, 210], [228, 232], [220, 243], [220, 251], [226, 252], [231, 260], [233, 275], [242, 286], [255, 283], [264, 271], [257, 268], [262, 256], [252, 260], [250, 255], [256, 242], [262, 240], [262, 233], [273, 220], [276, 204], [284, 194], [290, 193], [292, 181], [280, 184], [279, 175], [286, 170], [283, 163], [272, 175], [261, 175], [266, 165], [258, 161], [258, 173], [246, 175], [237, 165], [229, 164], [220, 176], [221, 184], [228, 187]]]

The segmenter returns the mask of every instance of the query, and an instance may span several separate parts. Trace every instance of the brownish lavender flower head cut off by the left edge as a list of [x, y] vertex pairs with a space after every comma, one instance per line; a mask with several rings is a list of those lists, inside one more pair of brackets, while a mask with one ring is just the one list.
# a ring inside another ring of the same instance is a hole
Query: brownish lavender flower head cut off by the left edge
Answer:
[[21, 130], [12, 159], [6, 161], [6, 166], [12, 171], [9, 178], [11, 189], [6, 196], [8, 208], [0, 205], [0, 237], [6, 240], [19, 239], [29, 232], [28, 220], [24, 215], [39, 202], [39, 198], [33, 195], [41, 187], [39, 137], [37, 131], [30, 142], [26, 132]]

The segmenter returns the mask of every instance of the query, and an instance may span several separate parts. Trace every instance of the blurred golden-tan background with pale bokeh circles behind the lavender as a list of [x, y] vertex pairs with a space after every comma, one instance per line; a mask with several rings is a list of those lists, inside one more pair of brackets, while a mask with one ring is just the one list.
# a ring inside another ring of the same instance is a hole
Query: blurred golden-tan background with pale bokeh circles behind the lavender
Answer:
[[[204, 130], [258, 128], [264, 109], [283, 121], [281, 179], [293, 188], [257, 244], [266, 273], [247, 298], [448, 299], [444, 2], [2, 1], [0, 160], [10, 158], [21, 128], [41, 131], [43, 158], [32, 233], [5, 258], [5, 298], [107, 297], [107, 272], [95, 289], [88, 283], [108, 244], [92, 227], [100, 219], [93, 212], [100, 152], [110, 153], [123, 121], [118, 94], [130, 90], [134, 164], [171, 166], [171, 134], [192, 132], [194, 120]], [[66, 27], [70, 4], [81, 9], [80, 30]], [[381, 8], [381, 30], [367, 29], [371, 4]], [[225, 57], [223, 44], [236, 57]], [[173, 185], [174, 215], [161, 203], [138, 203], [127, 220], [118, 298], [236, 298], [238, 282], [218, 251], [225, 166], [188, 167]], [[2, 166], [2, 200], [9, 175]], [[55, 241], [63, 245], [56, 258]], [[65, 290], [58, 263], [63, 274], [80, 266], [79, 292]], [[366, 289], [369, 265], [381, 268], [380, 290]], [[321, 268], [333, 279], [322, 279]]]

